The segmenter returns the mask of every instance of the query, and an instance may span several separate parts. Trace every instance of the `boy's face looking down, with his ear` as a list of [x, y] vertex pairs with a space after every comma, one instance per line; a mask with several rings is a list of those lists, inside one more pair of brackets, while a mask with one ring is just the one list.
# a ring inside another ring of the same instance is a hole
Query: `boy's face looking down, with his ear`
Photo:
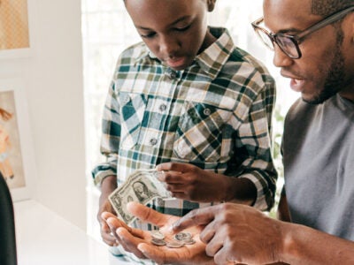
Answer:
[[214, 42], [207, 30], [207, 12], [215, 0], [126, 0], [142, 41], [160, 61], [183, 70]]

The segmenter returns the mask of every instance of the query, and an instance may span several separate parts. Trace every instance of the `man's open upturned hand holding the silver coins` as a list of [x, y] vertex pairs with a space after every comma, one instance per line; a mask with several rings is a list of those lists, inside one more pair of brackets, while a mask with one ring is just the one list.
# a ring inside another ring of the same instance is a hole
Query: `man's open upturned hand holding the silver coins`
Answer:
[[[160, 214], [136, 202], [129, 202], [127, 210], [142, 222], [158, 226], [159, 231], [165, 234], [165, 240], [173, 239], [171, 226], [179, 217]], [[167, 246], [153, 245], [150, 242], [152, 239], [150, 231], [128, 227], [126, 223], [110, 213], [104, 213], [102, 217], [111, 227], [111, 231], [119, 244], [127, 252], [135, 254], [138, 258], [150, 259], [158, 262], [158, 264], [213, 264], [212, 258], [205, 254], [204, 243], [199, 239], [199, 232], [202, 230], [199, 226], [187, 230], [193, 235], [196, 244], [185, 245], [180, 248], [168, 248]]]

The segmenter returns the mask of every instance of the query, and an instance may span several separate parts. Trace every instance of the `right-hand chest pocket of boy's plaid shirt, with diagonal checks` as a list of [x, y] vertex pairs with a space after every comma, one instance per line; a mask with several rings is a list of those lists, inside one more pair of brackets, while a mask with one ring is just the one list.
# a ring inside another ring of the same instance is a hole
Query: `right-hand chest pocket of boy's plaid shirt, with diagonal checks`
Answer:
[[223, 128], [232, 111], [210, 104], [185, 102], [173, 144], [177, 157], [206, 163], [219, 162]]

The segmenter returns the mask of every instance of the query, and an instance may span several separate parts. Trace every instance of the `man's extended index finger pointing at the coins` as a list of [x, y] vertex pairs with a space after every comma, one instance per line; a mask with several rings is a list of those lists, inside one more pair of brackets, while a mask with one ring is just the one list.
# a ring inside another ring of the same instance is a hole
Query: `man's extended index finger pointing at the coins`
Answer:
[[216, 207], [217, 206], [197, 208], [190, 211], [186, 216], [181, 217], [180, 220], [173, 223], [173, 232], [179, 232], [192, 226], [211, 223], [212, 220], [214, 220], [215, 215], [218, 213]]

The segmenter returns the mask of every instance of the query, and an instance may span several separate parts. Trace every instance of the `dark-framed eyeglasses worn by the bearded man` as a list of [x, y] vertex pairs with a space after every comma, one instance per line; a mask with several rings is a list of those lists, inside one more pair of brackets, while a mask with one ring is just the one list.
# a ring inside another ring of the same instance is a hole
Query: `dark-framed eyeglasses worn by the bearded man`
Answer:
[[264, 21], [264, 18], [257, 19], [252, 22], [252, 27], [255, 32], [258, 34], [260, 40], [266, 44], [266, 46], [274, 50], [274, 42], [279, 46], [279, 48], [290, 58], [298, 59], [302, 56], [299, 44], [304, 40], [304, 37], [314, 33], [322, 27], [326, 27], [329, 24], [335, 23], [335, 21], [342, 19], [345, 15], [354, 11], [354, 6], [347, 7], [342, 11], [336, 11], [332, 15], [329, 15], [327, 18], [320, 20], [311, 27], [306, 28], [304, 31], [299, 34], [272, 34], [266, 30], [266, 28], [260, 27]]

